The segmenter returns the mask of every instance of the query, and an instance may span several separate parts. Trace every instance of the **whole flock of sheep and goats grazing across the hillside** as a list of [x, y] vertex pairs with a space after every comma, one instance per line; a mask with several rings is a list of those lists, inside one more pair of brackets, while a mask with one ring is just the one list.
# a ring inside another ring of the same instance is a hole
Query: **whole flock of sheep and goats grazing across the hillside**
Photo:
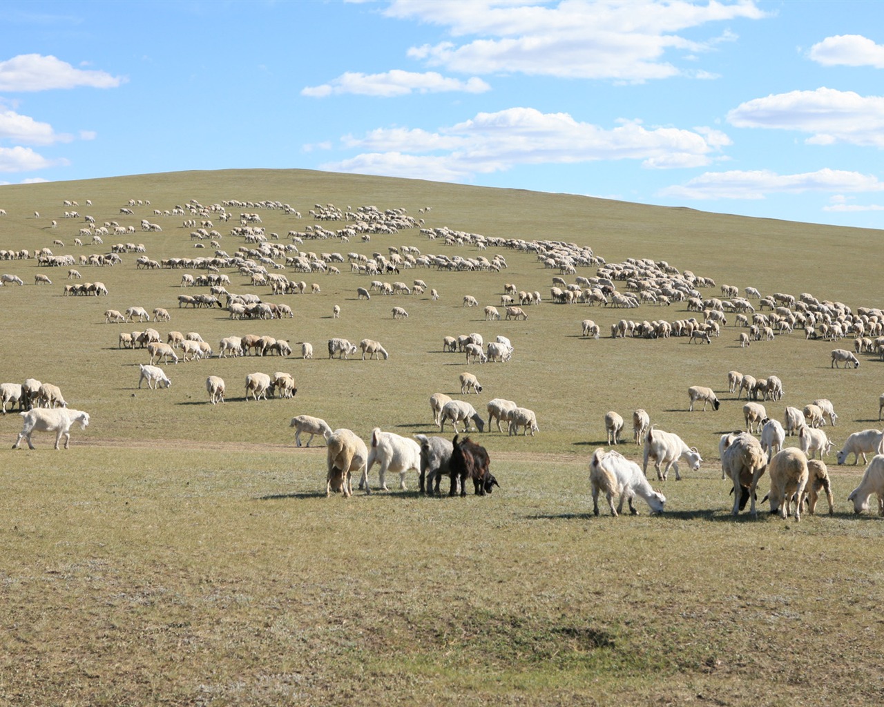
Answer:
[[[138, 204], [133, 200], [130, 207], [136, 204], [144, 205], [144, 201]], [[884, 313], [878, 308], [857, 308], [854, 313], [841, 302], [817, 300], [809, 293], [802, 293], [797, 298], [785, 293], [773, 293], [769, 297], [762, 297], [761, 293], [752, 287], [744, 288], [743, 297], [740, 295], [740, 290], [733, 285], [721, 285], [720, 298], [704, 296], [703, 289], [715, 286], [711, 278], [695, 276], [690, 270], [680, 271], [667, 262], [630, 258], [624, 262], [608, 263], [595, 255], [589, 247], [560, 241], [486, 238], [476, 233], [455, 231], [447, 227], [428, 228], [425, 227], [423, 218], [408, 217], [405, 209], [385, 211], [374, 207], [338, 209], [331, 204], [316, 204], [314, 209], [309, 210], [309, 215], [316, 221], [340, 221], [347, 224], [342, 224], [343, 227], [336, 231], [330, 231], [319, 224], [311, 224], [302, 231], [288, 232], [286, 239], [290, 242], [287, 243], [282, 243], [278, 234], [265, 232], [260, 225], [262, 223], [260, 215], [254, 212], [242, 212], [239, 225], [232, 228], [229, 237], [242, 239], [243, 244], [231, 256], [221, 248], [220, 242], [224, 236], [215, 230], [213, 221], [228, 222], [232, 213], [227, 209], [232, 209], [234, 206], [246, 209], [282, 209], [293, 218], [301, 218], [301, 215], [287, 204], [274, 201], [229, 201], [203, 207], [202, 204], [191, 200], [186, 205], [176, 205], [174, 209], [165, 211], [154, 209], [155, 217], [182, 215], [188, 217], [183, 224], [187, 228], [194, 228], [194, 231], [190, 232], [190, 238], [195, 241], [194, 247], [203, 248], [202, 241], [208, 239], [215, 252], [210, 257], [197, 258], [151, 259], [147, 255], [142, 255], [135, 261], [136, 268], [163, 271], [183, 267], [204, 270], [205, 274], [196, 277], [189, 273], [185, 274], [181, 277], [180, 285], [209, 287], [209, 292], [178, 295], [179, 308], [222, 308], [230, 313], [230, 318], [233, 320], [293, 317], [293, 311], [285, 304], [262, 300], [254, 294], [240, 295], [229, 292], [227, 287], [232, 286], [231, 278], [220, 270], [227, 269], [231, 270], [232, 274], [239, 273], [241, 277], [247, 279], [249, 285], [270, 286], [272, 294], [277, 295], [321, 292], [317, 284], [308, 287], [304, 281], [289, 280], [279, 272], [285, 268], [305, 273], [322, 272], [331, 276], [340, 274], [339, 268], [333, 263], [343, 262], [350, 262], [351, 272], [356, 276], [399, 274], [403, 269], [422, 267], [435, 268], [438, 271], [486, 272], [499, 272], [507, 268], [506, 259], [502, 255], [494, 255], [491, 258], [484, 255], [476, 257], [429, 255], [422, 254], [417, 247], [389, 247], [386, 254], [376, 252], [368, 257], [349, 253], [345, 257], [331, 251], [317, 254], [303, 247], [304, 242], [308, 240], [338, 239], [340, 243], [347, 243], [351, 238], [359, 238], [363, 243], [367, 243], [373, 234], [414, 228], [420, 229], [420, 235], [429, 243], [472, 246], [480, 251], [488, 247], [509, 248], [517, 253], [533, 255], [545, 269], [558, 273], [552, 276], [549, 298], [549, 301], [556, 305], [583, 303], [588, 307], [636, 309], [644, 306], [663, 308], [676, 302], [683, 302], [688, 312], [696, 314], [675, 321], [658, 318], [653, 321], [636, 322], [624, 318], [612, 324], [613, 338], [682, 336], [688, 338], [691, 343], [712, 344], [714, 338], [720, 337], [723, 327], [728, 325], [728, 318], [732, 317], [733, 325], [745, 330], [739, 331], [738, 337], [740, 346], [743, 347], [751, 346], [758, 341], [772, 340], [775, 335], [789, 335], [798, 329], [804, 330], [805, 338], [823, 338], [835, 342], [847, 336], [853, 337], [854, 351], [841, 348], [831, 351], [832, 367], [841, 367], [843, 364], [845, 368], [857, 368], [860, 363], [857, 356], [862, 353], [884, 358]], [[428, 212], [429, 209], [422, 209], [422, 213]], [[120, 209], [120, 215], [133, 216], [133, 209], [124, 207]], [[67, 217], [79, 216], [76, 212], [67, 212]], [[116, 221], [109, 221], [103, 226], [98, 226], [94, 217], [88, 216], [85, 220], [87, 225], [78, 232], [78, 238], [74, 239], [75, 245], [81, 246], [80, 239], [83, 237], [91, 237], [93, 244], [102, 245], [102, 236], [135, 232], [133, 225], [123, 226]], [[52, 222], [52, 227], [57, 227], [56, 221]], [[161, 230], [158, 224], [151, 223], [146, 218], [141, 219], [141, 231]], [[53, 245], [64, 247], [64, 243], [58, 239]], [[110, 253], [81, 255], [79, 262], [83, 266], [113, 266], [122, 262], [120, 253], [130, 252], [143, 253], [145, 247], [142, 244], [120, 243], [110, 247]], [[31, 255], [27, 250], [2, 251], [0, 259], [22, 260]], [[48, 247], [34, 252], [33, 255], [39, 268], [77, 263], [77, 260], [70, 255], [53, 255]], [[594, 276], [576, 275], [577, 268], [591, 267], [597, 269]], [[574, 282], [569, 283], [566, 279], [568, 276], [575, 276]], [[71, 269], [68, 270], [68, 278], [80, 279], [81, 276], [79, 271]], [[42, 273], [38, 273], [34, 281], [38, 285], [51, 285], [50, 278]], [[23, 284], [24, 281], [17, 275], [0, 276], [0, 285]], [[370, 286], [356, 288], [356, 300], [370, 300], [372, 292], [395, 296], [424, 293], [427, 289], [421, 278], [414, 278], [411, 286], [404, 282], [389, 284], [382, 280], [374, 280]], [[64, 294], [100, 296], [107, 294], [107, 288], [103, 283], [65, 285]], [[438, 292], [435, 289], [431, 289], [431, 300], [438, 300]], [[504, 308], [506, 319], [524, 321], [529, 318], [524, 308], [537, 307], [544, 301], [539, 291], [522, 291], [516, 285], [507, 283], [503, 287], [500, 307]], [[472, 294], [463, 296], [463, 308], [478, 306], [480, 303], [475, 296]], [[769, 311], [765, 312], [766, 309]], [[338, 318], [340, 311], [339, 305], [335, 304], [332, 316]], [[394, 306], [391, 312], [394, 319], [408, 317], [407, 310], [401, 306]], [[135, 306], [127, 308], [125, 312], [108, 309], [104, 315], [106, 323], [151, 321], [148, 308]], [[171, 320], [166, 308], [153, 308], [152, 315], [154, 322]], [[498, 321], [501, 315], [496, 307], [488, 305], [484, 308], [484, 317], [486, 321]], [[584, 319], [581, 322], [581, 333], [583, 337], [598, 339], [601, 329], [592, 319]], [[239, 357], [251, 352], [262, 357], [275, 353], [281, 358], [292, 354], [292, 346], [288, 341], [269, 336], [250, 334], [245, 337], [225, 337], [219, 342], [215, 353], [196, 332], [184, 335], [181, 332], [171, 331], [163, 342], [159, 332], [151, 328], [145, 331], [120, 332], [118, 347], [131, 349], [139, 347], [149, 353], [149, 362], [139, 364], [138, 381], [139, 388], [146, 382], [149, 389], [171, 387], [167, 369], [158, 365], [160, 361], [168, 365], [170, 359], [172, 364], [175, 364], [179, 360], [187, 362], [210, 359], [212, 356]], [[464, 353], [467, 363], [486, 361], [503, 363], [511, 361], [514, 355], [514, 346], [507, 337], [499, 336], [485, 347], [484, 340], [478, 333], [446, 337], [442, 348], [443, 351]], [[370, 359], [389, 357], [385, 347], [372, 338], [363, 338], [358, 346], [346, 338], [328, 340], [330, 359], [335, 357], [347, 359], [348, 356], [360, 351], [362, 360], [366, 356]], [[301, 342], [302, 358], [309, 359], [312, 355], [313, 346], [309, 342]], [[37, 392], [32, 392], [27, 388], [29, 382], [26, 381], [24, 386], [0, 385], [3, 413], [6, 413], [7, 405], [18, 403], [25, 420], [24, 429], [19, 434], [15, 446], [18, 447], [22, 439], [26, 439], [28, 445], [33, 448], [31, 434], [34, 431], [55, 431], [56, 448], [62, 437], [65, 437], [66, 448], [72, 424], [79, 422], [80, 426], [85, 428], [88, 425], [88, 414], [67, 408], [64, 398], [55, 386], [43, 385]], [[476, 374], [469, 371], [461, 374], [460, 383], [461, 394], [465, 396], [469, 396], [470, 392], [478, 393], [483, 390]], [[757, 380], [752, 376], [742, 376], [732, 371], [728, 376], [728, 385], [730, 392], [737, 392], [737, 399], [740, 399], [743, 391], [746, 391], [747, 395], [747, 402], [743, 406], [747, 429], [722, 436], [720, 440], [722, 473], [734, 483], [734, 513], [738, 513], [750, 500], [754, 513], [756, 485], [766, 469], [769, 469], [772, 483], [768, 495], [772, 512], [780, 512], [783, 515], [794, 513], [797, 520], [800, 517], [802, 497], [805, 492], [809, 498], [810, 512], [813, 513], [816, 493], [825, 490], [831, 513], [831, 491], [822, 457], [830, 452], [832, 443], [820, 429], [827, 422], [834, 426], [837, 419], [831, 403], [825, 399], [814, 400], [804, 407], [803, 411], [787, 407], [784, 416], [785, 426], [783, 426], [768, 417], [762, 404], [768, 397], [776, 401], [782, 398], [783, 389], [779, 378], [768, 376], [764, 380]], [[52, 388], [55, 388], [55, 392], [51, 390]], [[210, 404], [224, 403], [225, 381], [220, 376], [208, 376], [206, 392]], [[296, 392], [294, 378], [286, 372], [278, 371], [272, 376], [255, 372], [248, 374], [245, 379], [247, 400], [267, 399], [268, 396], [291, 398]], [[691, 386], [689, 399], [689, 411], [692, 411], [694, 405], [699, 402], [703, 403], [704, 411], [708, 405], [712, 405], [713, 410], [718, 410], [720, 407], [720, 400], [715, 392], [706, 386]], [[758, 402], [758, 399], [762, 402]], [[43, 407], [40, 407], [41, 405]], [[884, 409], [884, 396], [880, 401], [881, 409]], [[476, 432], [484, 431], [483, 416], [478, 414], [476, 408], [466, 400], [454, 400], [444, 393], [435, 393], [431, 396], [431, 411], [433, 422], [438, 425], [440, 433], [445, 431], [446, 422], [451, 422], [455, 435], [461, 433], [458, 429], [461, 422], [463, 432], [469, 431], [470, 425]], [[507, 423], [508, 435], [516, 435], [521, 430], [522, 435], [530, 432], [534, 436], [539, 431], [534, 411], [528, 407], [521, 407], [512, 400], [492, 399], [487, 403], [485, 412], [488, 414], [489, 431], [492, 422], [495, 421], [500, 432], [503, 431], [501, 423]], [[617, 445], [625, 425], [623, 418], [620, 414], [611, 411], [605, 415], [604, 424], [608, 445]], [[648, 463], [653, 462], [658, 479], [665, 481], [670, 468], [674, 469], [676, 480], [681, 478], [678, 466], [680, 460], [685, 460], [693, 470], [697, 470], [702, 462], [696, 447], [689, 447], [681, 437], [672, 432], [653, 427], [649, 415], [644, 410], [635, 411], [633, 424], [634, 441], [636, 444], [644, 445], [644, 468], [638, 468], [636, 462], [627, 460], [613, 450], [606, 452], [600, 449], [595, 452], [591, 457], [590, 470], [596, 513], [598, 513], [599, 493], [606, 495], [612, 513], [618, 512], [613, 503], [613, 498], [618, 496], [620, 497], [618, 510], [621, 510], [623, 503], [628, 501], [630, 510], [635, 512], [633, 499], [638, 497], [644, 499], [652, 512], [660, 512], [663, 510], [666, 498], [653, 490], [648, 483]], [[367, 493], [370, 492], [369, 473], [375, 463], [379, 465], [379, 484], [384, 490], [387, 488], [385, 483], [387, 471], [400, 474], [400, 488], [403, 489], [408, 472], [417, 472], [420, 476], [421, 490], [427, 492], [431, 492], [433, 488], [438, 492], [438, 481], [442, 475], [448, 475], [452, 479], [451, 494], [458, 489], [463, 493], [463, 483], [467, 478], [474, 480], [477, 493], [490, 492], [493, 485], [497, 484], [496, 479], [488, 471], [487, 452], [484, 452], [484, 448], [469, 440], [459, 441], [457, 436], [453, 442], [450, 442], [444, 437], [415, 435], [415, 441], [375, 429], [372, 432], [369, 450], [369, 445], [366, 445], [352, 430], [331, 430], [324, 420], [317, 417], [298, 415], [292, 419], [290, 425], [295, 429], [295, 441], [298, 446], [301, 446], [301, 435], [306, 434], [310, 436], [307, 441], [308, 446], [315, 435], [322, 436], [326, 441], [328, 492], [340, 490], [345, 495], [349, 495], [352, 492], [349, 478], [354, 472], [360, 475], [360, 488], [364, 488]], [[760, 439], [756, 438], [755, 434], [758, 434]], [[799, 446], [783, 448], [787, 435], [796, 435]], [[872, 493], [878, 495], [880, 511], [884, 513], [882, 452], [884, 447], [881, 443], [880, 430], [865, 430], [850, 435], [838, 454], [839, 464], [843, 463], [850, 453], [855, 454], [855, 463], [858, 462], [859, 456], [863, 456], [865, 461], [866, 453], [876, 454], [866, 470], [863, 482], [850, 495], [857, 513], [866, 509], [868, 498]], [[819, 455], [819, 460], [814, 459], [815, 455]], [[453, 462], [453, 459], [456, 461]]]

